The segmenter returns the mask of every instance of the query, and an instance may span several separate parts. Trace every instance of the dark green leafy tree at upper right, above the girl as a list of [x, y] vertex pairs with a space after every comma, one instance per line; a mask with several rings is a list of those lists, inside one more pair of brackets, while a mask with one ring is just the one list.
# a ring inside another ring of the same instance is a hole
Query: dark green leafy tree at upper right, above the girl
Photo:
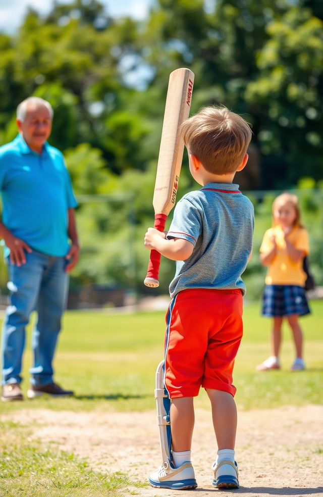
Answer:
[[[297, 7], [268, 24], [269, 38], [257, 55], [258, 75], [246, 88], [246, 100], [261, 122], [260, 150], [285, 166], [282, 185], [296, 184], [302, 176], [321, 178], [322, 28], [308, 9]], [[273, 184], [269, 175], [265, 178]]]

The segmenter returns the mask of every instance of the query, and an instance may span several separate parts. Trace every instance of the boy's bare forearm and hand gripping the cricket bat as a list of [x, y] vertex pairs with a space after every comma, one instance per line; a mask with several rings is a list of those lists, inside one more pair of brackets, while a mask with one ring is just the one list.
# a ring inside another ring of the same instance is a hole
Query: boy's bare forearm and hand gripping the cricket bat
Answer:
[[144, 238], [144, 245], [148, 250], [156, 250], [162, 256], [172, 261], [185, 261], [193, 252], [194, 245], [184, 238], [167, 240], [165, 233], [155, 228], [148, 228]]

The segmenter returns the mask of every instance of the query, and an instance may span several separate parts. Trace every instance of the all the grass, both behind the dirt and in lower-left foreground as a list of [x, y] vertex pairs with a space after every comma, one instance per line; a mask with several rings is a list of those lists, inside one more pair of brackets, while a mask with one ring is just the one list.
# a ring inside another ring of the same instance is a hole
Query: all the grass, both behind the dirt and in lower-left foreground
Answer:
[[[244, 338], [234, 375], [239, 410], [321, 403], [323, 302], [312, 302], [311, 308], [312, 314], [301, 320], [306, 371], [289, 372], [294, 355], [290, 331], [285, 326], [282, 370], [257, 373], [255, 366], [269, 353], [271, 322], [259, 315], [258, 304], [245, 306]], [[164, 312], [67, 312], [56, 355], [55, 378], [63, 386], [73, 388], [76, 396], [2, 403], [1, 412], [10, 415], [26, 408], [105, 412], [154, 409], [154, 373], [163, 358], [164, 331]], [[24, 391], [28, 388], [30, 362], [29, 327]], [[208, 408], [203, 391], [195, 405]], [[0, 443], [4, 448], [0, 456], [1, 496], [120, 497], [123, 489], [132, 485], [127, 475], [93, 472], [86, 461], [72, 454], [53, 453], [50, 446], [44, 448], [30, 441], [29, 430], [30, 427], [14, 424], [7, 417], [0, 423]], [[140, 494], [140, 489], [135, 487], [132, 492]]]

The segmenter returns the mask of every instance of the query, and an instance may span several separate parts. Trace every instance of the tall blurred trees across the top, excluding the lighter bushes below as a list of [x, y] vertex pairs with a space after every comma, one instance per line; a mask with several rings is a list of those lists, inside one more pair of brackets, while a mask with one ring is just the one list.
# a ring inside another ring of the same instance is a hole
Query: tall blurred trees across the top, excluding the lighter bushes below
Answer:
[[[100, 2], [29, 9], [13, 36], [0, 34], [0, 142], [30, 94], [55, 109], [52, 143], [87, 142], [107, 168], [146, 170], [156, 159], [170, 71], [195, 72], [192, 111], [225, 104], [253, 124], [262, 184], [319, 179], [322, 21], [312, 0], [159, 0], [147, 20], [112, 19]], [[267, 164], [275, 173], [268, 175]], [[295, 167], [297, 165], [297, 167]], [[280, 177], [279, 177], [280, 176]]]

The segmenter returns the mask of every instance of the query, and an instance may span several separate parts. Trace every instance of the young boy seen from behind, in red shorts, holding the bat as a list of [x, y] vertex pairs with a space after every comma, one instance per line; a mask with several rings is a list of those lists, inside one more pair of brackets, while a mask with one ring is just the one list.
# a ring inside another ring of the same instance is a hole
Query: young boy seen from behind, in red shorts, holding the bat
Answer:
[[182, 131], [190, 172], [202, 188], [178, 202], [167, 235], [148, 228], [144, 241], [147, 249], [176, 261], [165, 340], [176, 468], [167, 473], [161, 467], [149, 482], [165, 488], [197, 486], [190, 462], [193, 397], [202, 386], [218, 443], [212, 485], [238, 488], [232, 371], [242, 337], [241, 274], [251, 255], [254, 215], [251, 202], [232, 181], [247, 163], [251, 130], [227, 108], [206, 107], [187, 119]]

